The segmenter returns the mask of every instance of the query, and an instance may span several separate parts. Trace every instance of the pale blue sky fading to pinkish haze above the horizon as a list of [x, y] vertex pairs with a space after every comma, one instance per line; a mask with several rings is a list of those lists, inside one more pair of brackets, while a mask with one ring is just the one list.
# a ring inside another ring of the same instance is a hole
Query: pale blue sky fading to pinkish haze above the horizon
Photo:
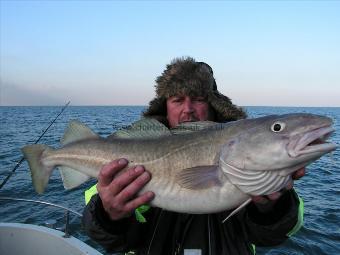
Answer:
[[191, 56], [235, 104], [340, 106], [340, 1], [0, 5], [0, 105], [146, 105]]

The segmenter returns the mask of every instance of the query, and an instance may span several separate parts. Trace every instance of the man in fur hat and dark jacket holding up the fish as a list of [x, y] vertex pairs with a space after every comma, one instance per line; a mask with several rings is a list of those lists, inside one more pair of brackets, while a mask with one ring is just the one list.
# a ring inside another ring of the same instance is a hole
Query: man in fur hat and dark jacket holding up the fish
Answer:
[[[175, 59], [156, 80], [156, 98], [144, 116], [174, 128], [184, 122], [226, 122], [246, 117], [217, 90], [213, 71], [192, 58]], [[98, 177], [98, 195], [85, 208], [83, 223], [88, 235], [108, 251], [132, 254], [252, 254], [254, 245], [283, 242], [297, 229], [299, 199], [291, 189], [253, 203], [222, 224], [230, 213], [191, 215], [151, 208], [140, 223], [134, 210], [147, 204], [154, 194], [138, 192], [152, 178], [143, 166], [119, 172], [128, 159], [104, 166]], [[295, 173], [301, 177], [304, 169]], [[138, 194], [138, 195], [137, 195]]]

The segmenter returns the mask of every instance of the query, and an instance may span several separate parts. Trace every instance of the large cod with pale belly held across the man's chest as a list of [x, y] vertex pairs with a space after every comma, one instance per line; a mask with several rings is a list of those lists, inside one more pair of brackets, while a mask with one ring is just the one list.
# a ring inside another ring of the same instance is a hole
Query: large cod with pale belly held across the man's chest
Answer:
[[334, 131], [332, 120], [312, 114], [210, 123], [177, 135], [156, 131], [154, 138], [104, 139], [72, 121], [62, 148], [28, 145], [22, 151], [38, 193], [44, 192], [56, 167], [69, 189], [97, 177], [104, 164], [127, 158], [129, 167], [144, 165], [151, 173], [141, 192], [155, 193], [152, 206], [197, 214], [229, 210], [250, 196], [279, 191], [294, 171], [336, 148], [326, 142]]

